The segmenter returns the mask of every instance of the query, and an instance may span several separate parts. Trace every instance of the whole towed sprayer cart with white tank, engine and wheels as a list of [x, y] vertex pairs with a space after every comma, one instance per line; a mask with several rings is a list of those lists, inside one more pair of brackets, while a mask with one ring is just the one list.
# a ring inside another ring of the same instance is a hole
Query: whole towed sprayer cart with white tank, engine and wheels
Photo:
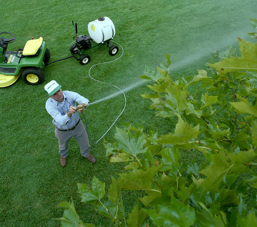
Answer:
[[[110, 45], [110, 40], [115, 35], [115, 27], [109, 17], [99, 17], [97, 20], [90, 22], [88, 24], [89, 36], [78, 35], [77, 23], [75, 25], [73, 23], [73, 26], [76, 29], [76, 36], [73, 37], [73, 40], [76, 40], [71, 43], [69, 50], [81, 65], [88, 64], [91, 60], [90, 56], [85, 52], [100, 45], [108, 46], [111, 56], [118, 53], [118, 46]], [[95, 43], [93, 46], [91, 41]], [[80, 55], [80, 57], [76, 57], [76, 55]]]

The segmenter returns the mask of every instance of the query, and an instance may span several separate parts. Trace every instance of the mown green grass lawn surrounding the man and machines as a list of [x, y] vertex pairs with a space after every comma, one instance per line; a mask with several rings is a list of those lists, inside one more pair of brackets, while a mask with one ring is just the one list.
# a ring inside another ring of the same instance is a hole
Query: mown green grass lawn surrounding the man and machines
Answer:
[[[237, 37], [247, 39], [252, 32], [249, 17], [256, 18], [257, 3], [246, 1], [200, 0], [2, 0], [1, 31], [11, 32], [15, 42], [9, 50], [23, 47], [31, 37], [42, 36], [51, 52], [49, 62], [71, 56], [69, 46], [75, 36], [72, 21], [79, 34], [88, 34], [87, 25], [98, 17], [109, 17], [116, 29], [114, 41], [123, 49], [123, 56], [112, 63], [93, 67], [91, 77], [121, 89], [137, 84], [145, 66], [152, 70], [171, 55], [172, 79], [205, 69], [205, 62], [214, 49], [237, 46]], [[1, 35], [0, 35], [1, 36]], [[91, 144], [97, 163], [83, 159], [75, 139], [69, 143], [67, 167], [59, 164], [58, 141], [51, 116], [45, 110], [48, 97], [44, 85], [55, 79], [63, 90], [71, 90], [95, 102], [116, 93], [117, 88], [89, 77], [89, 69], [100, 62], [112, 61], [107, 46], [89, 50], [91, 62], [81, 66], [75, 58], [46, 66], [41, 85], [27, 85], [21, 78], [0, 89], [0, 226], [60, 226], [54, 220], [63, 216], [58, 204], [73, 200], [80, 218], [96, 226], [110, 226], [90, 204], [80, 202], [77, 183], [91, 184], [94, 175], [106, 183], [123, 171], [122, 164], [111, 164], [105, 157], [103, 140]], [[121, 122], [151, 125], [160, 134], [173, 130], [172, 119], [160, 119], [149, 108], [150, 101], [140, 94], [148, 92], [144, 84], [126, 92], [127, 106], [115, 126]], [[86, 111], [89, 134], [97, 141], [109, 129], [123, 110], [123, 95], [90, 105]], [[82, 118], [82, 116], [81, 116]], [[84, 121], [84, 120], [83, 120]], [[115, 127], [105, 136], [112, 142]], [[197, 158], [197, 155], [195, 155]], [[186, 160], [188, 161], [188, 160]], [[140, 192], [139, 192], [140, 194]], [[127, 212], [137, 203], [138, 192], [125, 193]]]

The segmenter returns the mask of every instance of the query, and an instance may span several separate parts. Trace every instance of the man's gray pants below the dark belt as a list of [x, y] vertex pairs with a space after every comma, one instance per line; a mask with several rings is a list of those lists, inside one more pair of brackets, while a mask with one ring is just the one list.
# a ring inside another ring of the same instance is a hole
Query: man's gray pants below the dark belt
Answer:
[[81, 155], [84, 157], [89, 156], [90, 145], [87, 139], [87, 132], [81, 120], [73, 130], [60, 131], [55, 128], [55, 136], [59, 141], [59, 154], [63, 158], [66, 158], [69, 154], [68, 145], [73, 136], [80, 146]]

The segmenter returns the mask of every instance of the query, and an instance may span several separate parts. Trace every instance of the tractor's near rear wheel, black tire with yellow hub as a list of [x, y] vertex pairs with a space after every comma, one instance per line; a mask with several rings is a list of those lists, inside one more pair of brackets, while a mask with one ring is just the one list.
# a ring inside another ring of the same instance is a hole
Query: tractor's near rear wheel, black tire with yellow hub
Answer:
[[21, 77], [29, 85], [38, 85], [43, 83], [45, 72], [41, 68], [27, 67], [23, 70]]

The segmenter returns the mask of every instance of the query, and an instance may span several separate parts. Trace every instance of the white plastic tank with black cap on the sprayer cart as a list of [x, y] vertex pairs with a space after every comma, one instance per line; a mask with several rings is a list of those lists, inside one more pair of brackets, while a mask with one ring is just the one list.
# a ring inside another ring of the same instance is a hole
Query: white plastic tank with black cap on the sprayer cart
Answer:
[[109, 17], [99, 17], [87, 26], [89, 36], [96, 42], [101, 43], [115, 36], [115, 27]]

